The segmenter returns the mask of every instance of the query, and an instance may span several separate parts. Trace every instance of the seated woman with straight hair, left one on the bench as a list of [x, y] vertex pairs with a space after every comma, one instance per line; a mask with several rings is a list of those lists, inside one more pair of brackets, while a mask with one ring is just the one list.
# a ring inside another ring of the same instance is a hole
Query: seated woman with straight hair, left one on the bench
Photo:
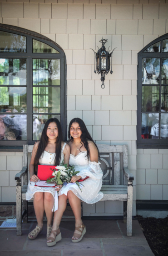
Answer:
[[30, 200], [34, 195], [34, 208], [37, 219], [37, 226], [32, 230], [28, 237], [34, 240], [43, 230], [44, 211], [47, 217], [47, 239], [51, 233], [51, 222], [53, 219], [52, 208], [54, 205], [55, 190], [59, 188], [35, 187], [35, 182], [39, 181], [37, 177], [38, 165], [59, 165], [64, 162], [69, 163], [70, 147], [63, 142], [60, 122], [57, 118], [50, 118], [46, 121], [42, 131], [41, 139], [33, 148], [31, 161], [29, 165], [30, 182], [26, 192], [26, 200]]

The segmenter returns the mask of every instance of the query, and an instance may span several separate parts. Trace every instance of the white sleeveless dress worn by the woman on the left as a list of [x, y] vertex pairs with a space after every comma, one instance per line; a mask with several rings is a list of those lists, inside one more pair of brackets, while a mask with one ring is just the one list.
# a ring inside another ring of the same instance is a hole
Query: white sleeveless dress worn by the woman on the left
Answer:
[[[66, 143], [64, 143], [64, 146], [62, 147], [62, 150], [61, 150], [60, 164], [62, 162], [64, 162], [63, 150], [64, 150], [65, 145], [66, 145]], [[40, 158], [39, 163], [41, 165], [54, 165], [54, 159], [55, 159], [55, 153], [49, 153], [49, 152], [44, 151], [42, 157]], [[49, 192], [53, 195], [53, 197], [55, 195], [55, 189], [54, 188], [35, 187], [35, 182], [30, 182], [29, 181], [29, 185], [28, 185], [27, 192], [26, 192], [26, 200], [32, 199], [32, 197], [34, 196], [34, 194], [36, 192]]]

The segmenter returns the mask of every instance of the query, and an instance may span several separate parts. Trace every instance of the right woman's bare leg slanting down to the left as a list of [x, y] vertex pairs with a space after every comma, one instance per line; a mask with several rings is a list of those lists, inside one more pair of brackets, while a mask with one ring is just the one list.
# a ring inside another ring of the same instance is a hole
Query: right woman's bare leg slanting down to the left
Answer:
[[[62, 215], [63, 215], [63, 213], [66, 209], [68, 196], [63, 194], [63, 195], [59, 196], [58, 199], [59, 199], [58, 200], [58, 210], [54, 212], [54, 221], [53, 221], [52, 230], [58, 230], [59, 229], [59, 224], [61, 222]], [[51, 234], [50, 236], [54, 238], [53, 234]], [[47, 242], [52, 242], [52, 241], [48, 240]]]

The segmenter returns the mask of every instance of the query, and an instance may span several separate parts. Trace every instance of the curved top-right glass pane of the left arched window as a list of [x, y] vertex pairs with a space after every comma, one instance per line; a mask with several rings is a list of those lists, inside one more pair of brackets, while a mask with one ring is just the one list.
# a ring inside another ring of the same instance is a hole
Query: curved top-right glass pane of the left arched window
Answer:
[[33, 52], [37, 53], [60, 53], [44, 42], [33, 39]]

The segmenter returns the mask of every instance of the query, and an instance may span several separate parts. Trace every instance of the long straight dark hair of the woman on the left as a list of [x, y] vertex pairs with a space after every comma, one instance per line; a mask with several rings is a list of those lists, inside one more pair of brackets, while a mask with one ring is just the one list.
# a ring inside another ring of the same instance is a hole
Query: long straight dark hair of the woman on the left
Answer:
[[49, 138], [47, 136], [47, 128], [48, 128], [49, 124], [53, 123], [53, 122], [57, 125], [57, 128], [58, 128], [58, 137], [57, 137], [57, 141], [56, 141], [54, 165], [59, 165], [59, 162], [61, 159], [61, 148], [62, 148], [61, 144], [63, 141], [62, 129], [61, 129], [61, 124], [57, 118], [50, 118], [49, 120], [47, 120], [45, 122], [43, 131], [41, 134], [40, 143], [38, 145], [37, 152], [35, 154], [35, 159], [34, 159], [35, 173], [37, 173], [37, 166], [39, 164], [40, 157], [43, 155], [44, 149], [49, 143], [49, 141], [48, 141]]

